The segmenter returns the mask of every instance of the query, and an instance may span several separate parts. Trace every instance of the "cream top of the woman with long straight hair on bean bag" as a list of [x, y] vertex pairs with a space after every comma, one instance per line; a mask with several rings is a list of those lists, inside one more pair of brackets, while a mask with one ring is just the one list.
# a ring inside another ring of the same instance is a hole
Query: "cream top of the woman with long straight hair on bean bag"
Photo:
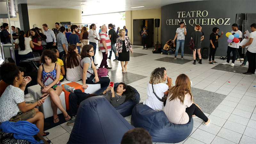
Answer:
[[185, 95], [183, 104], [178, 98], [169, 101], [168, 97], [164, 107], [164, 113], [168, 120], [173, 124], [187, 124], [189, 117], [186, 113], [186, 108], [190, 107], [192, 104], [193, 102], [191, 101], [191, 96], [188, 93]]

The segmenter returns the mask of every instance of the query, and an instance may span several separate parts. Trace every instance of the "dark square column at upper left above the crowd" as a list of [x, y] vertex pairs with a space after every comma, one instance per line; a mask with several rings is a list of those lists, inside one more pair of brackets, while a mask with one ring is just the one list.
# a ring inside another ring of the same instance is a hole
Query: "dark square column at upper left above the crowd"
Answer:
[[29, 20], [28, 20], [28, 5], [18, 4], [19, 19], [20, 19], [20, 29], [27, 32], [29, 30]]

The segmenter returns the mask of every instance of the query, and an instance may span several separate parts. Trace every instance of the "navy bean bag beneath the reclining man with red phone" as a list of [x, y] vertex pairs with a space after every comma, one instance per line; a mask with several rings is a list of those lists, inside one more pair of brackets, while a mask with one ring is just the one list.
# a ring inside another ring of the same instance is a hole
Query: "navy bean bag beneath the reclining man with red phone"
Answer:
[[[116, 88], [118, 86], [119, 83], [115, 83], [114, 84], [114, 91], [116, 91]], [[101, 92], [103, 92], [104, 90], [106, 90], [107, 87], [103, 87], [100, 90], [98, 90], [97, 92], [95, 92], [97, 95], [100, 95]], [[124, 117], [126, 116], [130, 116], [132, 114], [132, 108], [138, 104], [140, 102], [140, 94], [139, 92], [135, 89], [134, 90], [134, 98], [135, 100], [129, 100], [124, 102], [123, 104], [115, 107], [116, 110]]]

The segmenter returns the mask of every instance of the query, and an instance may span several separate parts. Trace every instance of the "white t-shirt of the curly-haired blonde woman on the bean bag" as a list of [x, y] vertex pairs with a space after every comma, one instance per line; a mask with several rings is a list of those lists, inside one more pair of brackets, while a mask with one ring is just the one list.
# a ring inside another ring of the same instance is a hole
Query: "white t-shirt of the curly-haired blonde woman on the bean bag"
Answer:
[[[159, 84], [153, 84], [154, 86], [154, 91], [156, 95], [162, 99], [164, 96], [164, 92], [168, 90], [168, 85], [164, 83], [159, 83]], [[156, 98], [156, 95], [153, 93], [152, 89], [152, 84], [148, 83], [147, 86], [147, 94], [148, 98], [143, 102], [143, 104], [146, 104], [150, 108], [156, 110], [156, 111], [161, 111], [164, 108], [164, 103]]]

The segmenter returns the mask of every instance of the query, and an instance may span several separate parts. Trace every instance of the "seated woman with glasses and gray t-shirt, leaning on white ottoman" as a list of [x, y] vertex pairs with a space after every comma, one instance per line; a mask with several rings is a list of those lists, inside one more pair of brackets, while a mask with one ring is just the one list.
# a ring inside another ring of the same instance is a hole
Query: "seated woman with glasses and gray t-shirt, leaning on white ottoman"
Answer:
[[82, 60], [80, 61], [80, 75], [83, 80], [83, 89], [87, 89], [87, 84], [100, 84], [102, 88], [108, 86], [110, 83], [108, 77], [101, 77], [99, 79], [92, 56], [94, 56], [93, 46], [91, 44], [84, 45], [81, 52]]

